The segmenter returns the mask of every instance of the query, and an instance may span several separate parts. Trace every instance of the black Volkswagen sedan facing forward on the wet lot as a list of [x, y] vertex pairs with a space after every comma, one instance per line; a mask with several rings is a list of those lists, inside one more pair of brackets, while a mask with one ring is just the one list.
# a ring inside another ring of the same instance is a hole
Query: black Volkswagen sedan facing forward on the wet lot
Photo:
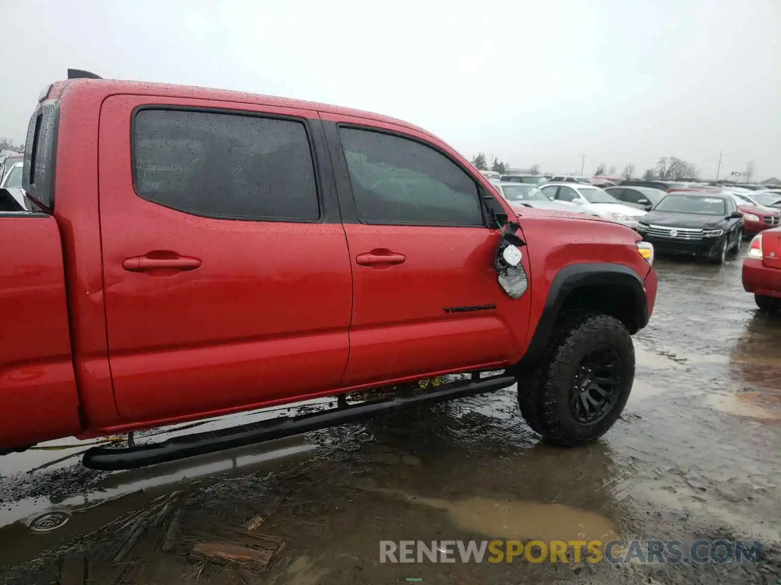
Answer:
[[637, 224], [637, 232], [659, 252], [708, 257], [718, 264], [737, 252], [743, 214], [722, 193], [670, 193]]

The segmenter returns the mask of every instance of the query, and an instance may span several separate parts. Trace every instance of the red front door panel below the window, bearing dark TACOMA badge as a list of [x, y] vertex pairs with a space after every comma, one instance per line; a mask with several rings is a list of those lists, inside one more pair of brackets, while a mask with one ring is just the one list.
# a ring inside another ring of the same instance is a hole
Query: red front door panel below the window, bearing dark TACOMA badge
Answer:
[[[515, 335], [526, 335], [510, 327], [527, 310], [525, 300], [510, 299], [497, 284], [496, 230], [361, 224], [344, 229], [355, 278], [345, 385], [502, 362], [518, 345]], [[361, 254], [373, 249], [403, 254], [405, 262], [387, 268], [361, 264]], [[495, 309], [445, 310], [492, 304]]]

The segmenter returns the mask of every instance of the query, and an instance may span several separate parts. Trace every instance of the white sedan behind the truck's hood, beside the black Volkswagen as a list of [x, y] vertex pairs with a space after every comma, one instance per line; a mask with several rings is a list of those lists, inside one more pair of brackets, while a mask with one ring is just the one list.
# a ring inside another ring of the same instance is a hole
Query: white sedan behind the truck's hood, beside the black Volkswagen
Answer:
[[569, 204], [569, 211], [580, 211], [598, 218], [609, 219], [635, 229], [647, 211], [624, 205], [599, 187], [580, 183], [548, 183], [540, 186], [545, 195], [558, 203]]

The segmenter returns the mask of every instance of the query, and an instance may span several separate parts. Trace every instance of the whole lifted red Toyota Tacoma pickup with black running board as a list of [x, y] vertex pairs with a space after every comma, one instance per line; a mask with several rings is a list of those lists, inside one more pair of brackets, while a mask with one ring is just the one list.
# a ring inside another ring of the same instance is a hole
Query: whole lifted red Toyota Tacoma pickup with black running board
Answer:
[[[23, 185], [0, 213], [3, 452], [337, 397], [84, 456], [127, 469], [516, 381], [530, 426], [576, 445], [619, 417], [654, 306], [635, 232], [512, 211], [437, 137], [368, 112], [69, 70]], [[345, 398], [444, 374], [465, 375]]]

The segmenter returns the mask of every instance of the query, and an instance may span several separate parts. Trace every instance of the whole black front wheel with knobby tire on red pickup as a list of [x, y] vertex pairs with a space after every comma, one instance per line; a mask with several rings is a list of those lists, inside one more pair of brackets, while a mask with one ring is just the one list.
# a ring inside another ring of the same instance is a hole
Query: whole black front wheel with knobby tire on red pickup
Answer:
[[601, 437], [626, 406], [634, 379], [632, 338], [615, 317], [573, 315], [562, 321], [542, 363], [522, 384], [521, 413], [554, 445]]

